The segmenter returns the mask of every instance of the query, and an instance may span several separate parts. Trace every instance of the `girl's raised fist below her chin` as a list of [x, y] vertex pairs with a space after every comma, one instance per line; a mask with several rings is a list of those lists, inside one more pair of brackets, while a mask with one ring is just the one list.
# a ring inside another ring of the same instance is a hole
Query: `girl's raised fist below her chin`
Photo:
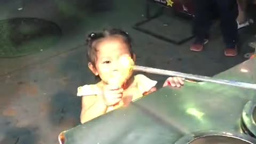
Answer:
[[103, 102], [107, 107], [113, 106], [122, 100], [123, 89], [115, 89], [113, 86], [105, 86], [102, 92]]

